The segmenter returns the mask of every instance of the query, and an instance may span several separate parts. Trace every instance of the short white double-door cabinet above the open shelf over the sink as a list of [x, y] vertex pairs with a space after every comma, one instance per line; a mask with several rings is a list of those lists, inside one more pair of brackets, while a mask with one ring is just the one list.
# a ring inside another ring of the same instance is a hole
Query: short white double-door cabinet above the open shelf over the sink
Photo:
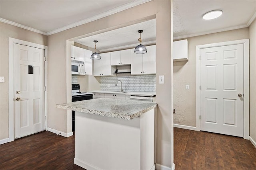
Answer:
[[111, 52], [111, 65], [121, 66], [131, 64], [131, 49]]

